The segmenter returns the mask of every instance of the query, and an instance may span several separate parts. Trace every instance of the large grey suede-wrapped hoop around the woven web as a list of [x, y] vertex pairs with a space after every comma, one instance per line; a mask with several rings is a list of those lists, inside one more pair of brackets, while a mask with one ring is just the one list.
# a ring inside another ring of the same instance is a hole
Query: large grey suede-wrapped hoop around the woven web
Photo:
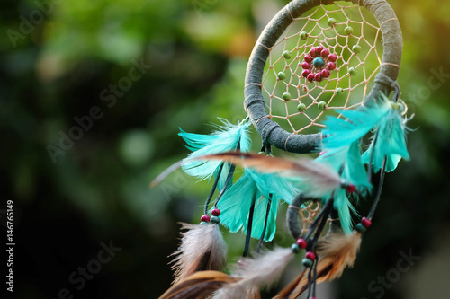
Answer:
[[[375, 84], [364, 101], [373, 101], [380, 92], [386, 95], [394, 89], [401, 65], [401, 27], [392, 7], [385, 0], [346, 0], [365, 6], [380, 25], [383, 34], [383, 64], [376, 75]], [[269, 22], [259, 36], [249, 58], [245, 81], [244, 108], [265, 145], [293, 153], [311, 153], [320, 145], [321, 134], [296, 135], [281, 128], [268, 117], [265, 99], [261, 91], [262, 78], [269, 48], [283, 34], [293, 18], [301, 16], [320, 4], [333, 4], [334, 0], [293, 0], [284, 6]]]

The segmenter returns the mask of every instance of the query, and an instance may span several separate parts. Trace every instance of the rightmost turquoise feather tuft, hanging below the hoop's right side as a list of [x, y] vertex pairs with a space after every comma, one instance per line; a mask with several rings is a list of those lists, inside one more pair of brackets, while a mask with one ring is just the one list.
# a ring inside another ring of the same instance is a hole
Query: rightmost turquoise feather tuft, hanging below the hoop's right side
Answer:
[[383, 159], [386, 157], [385, 171], [394, 171], [401, 158], [410, 160], [406, 146], [406, 120], [399, 110], [392, 108], [392, 103], [383, 96], [385, 106], [390, 107], [389, 113], [380, 120], [374, 131], [372, 142], [363, 154], [363, 162], [369, 163], [372, 153], [374, 172], [383, 168]]

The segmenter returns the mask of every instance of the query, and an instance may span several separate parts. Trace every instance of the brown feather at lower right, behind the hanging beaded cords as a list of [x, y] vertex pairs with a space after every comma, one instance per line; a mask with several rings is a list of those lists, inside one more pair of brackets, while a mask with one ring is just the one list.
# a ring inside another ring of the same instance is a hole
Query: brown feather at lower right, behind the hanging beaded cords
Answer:
[[[316, 245], [316, 253], [319, 256], [317, 283], [341, 277], [345, 268], [352, 268], [360, 246], [361, 233], [357, 232], [350, 234], [330, 233], [320, 240]], [[308, 287], [308, 277], [303, 277], [303, 275], [304, 271], [275, 298], [295, 299], [302, 295]]]

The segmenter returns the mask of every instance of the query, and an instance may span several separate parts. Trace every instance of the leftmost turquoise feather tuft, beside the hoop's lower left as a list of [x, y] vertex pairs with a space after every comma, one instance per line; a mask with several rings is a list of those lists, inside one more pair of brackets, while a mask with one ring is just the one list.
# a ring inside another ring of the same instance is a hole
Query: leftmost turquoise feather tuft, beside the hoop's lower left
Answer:
[[[233, 125], [226, 119], [220, 119], [220, 121], [223, 125], [216, 126], [217, 130], [210, 135], [186, 133], [180, 128], [181, 132], [178, 135], [183, 137], [186, 147], [193, 151], [183, 160], [181, 167], [187, 174], [199, 180], [210, 180], [213, 175], [217, 176], [221, 161], [201, 161], [194, 158], [233, 151], [236, 150], [238, 144], [241, 152], [250, 150], [250, 138], [248, 136], [250, 121], [246, 119], [238, 125]], [[219, 189], [223, 188], [228, 172], [229, 164], [225, 164], [220, 173]]]

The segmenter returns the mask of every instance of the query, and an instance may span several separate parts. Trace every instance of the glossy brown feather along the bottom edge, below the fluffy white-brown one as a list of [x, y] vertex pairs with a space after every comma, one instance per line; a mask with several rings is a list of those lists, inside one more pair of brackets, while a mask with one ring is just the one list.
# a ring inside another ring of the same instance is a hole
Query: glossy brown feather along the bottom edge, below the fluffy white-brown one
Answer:
[[197, 299], [211, 295], [212, 292], [235, 283], [237, 277], [229, 277], [219, 271], [200, 271], [190, 277], [178, 281], [171, 286], [159, 299]]

